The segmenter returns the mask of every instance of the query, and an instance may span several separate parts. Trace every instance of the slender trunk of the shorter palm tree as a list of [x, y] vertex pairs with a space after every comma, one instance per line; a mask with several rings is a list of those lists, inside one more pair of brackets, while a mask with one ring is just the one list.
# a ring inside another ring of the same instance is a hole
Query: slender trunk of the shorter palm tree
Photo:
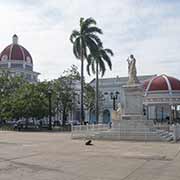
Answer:
[[98, 62], [96, 62], [96, 123], [98, 124], [99, 123], [99, 99], [98, 99], [98, 96], [99, 96], [99, 78], [98, 78]]

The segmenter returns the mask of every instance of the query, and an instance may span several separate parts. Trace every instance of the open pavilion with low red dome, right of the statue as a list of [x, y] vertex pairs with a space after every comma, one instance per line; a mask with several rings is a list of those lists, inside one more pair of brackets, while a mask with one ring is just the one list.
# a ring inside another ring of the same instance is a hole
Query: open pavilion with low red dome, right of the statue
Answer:
[[157, 122], [180, 122], [180, 80], [167, 75], [143, 83], [147, 119]]

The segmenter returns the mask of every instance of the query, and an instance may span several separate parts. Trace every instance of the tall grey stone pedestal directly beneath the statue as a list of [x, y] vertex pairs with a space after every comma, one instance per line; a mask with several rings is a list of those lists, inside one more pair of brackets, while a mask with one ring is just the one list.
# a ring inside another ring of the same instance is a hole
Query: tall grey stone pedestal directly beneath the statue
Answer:
[[122, 93], [122, 120], [143, 120], [144, 90], [142, 85], [124, 85]]

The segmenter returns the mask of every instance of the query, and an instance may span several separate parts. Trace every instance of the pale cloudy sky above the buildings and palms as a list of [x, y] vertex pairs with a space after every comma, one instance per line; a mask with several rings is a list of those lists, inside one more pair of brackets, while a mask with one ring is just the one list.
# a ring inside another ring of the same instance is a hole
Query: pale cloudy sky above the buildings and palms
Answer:
[[127, 76], [126, 59], [133, 54], [138, 75], [180, 79], [179, 9], [179, 0], [0, 0], [0, 51], [17, 34], [40, 80], [58, 78], [72, 64], [80, 70], [69, 36], [80, 17], [93, 17], [104, 47], [114, 52], [104, 78]]

